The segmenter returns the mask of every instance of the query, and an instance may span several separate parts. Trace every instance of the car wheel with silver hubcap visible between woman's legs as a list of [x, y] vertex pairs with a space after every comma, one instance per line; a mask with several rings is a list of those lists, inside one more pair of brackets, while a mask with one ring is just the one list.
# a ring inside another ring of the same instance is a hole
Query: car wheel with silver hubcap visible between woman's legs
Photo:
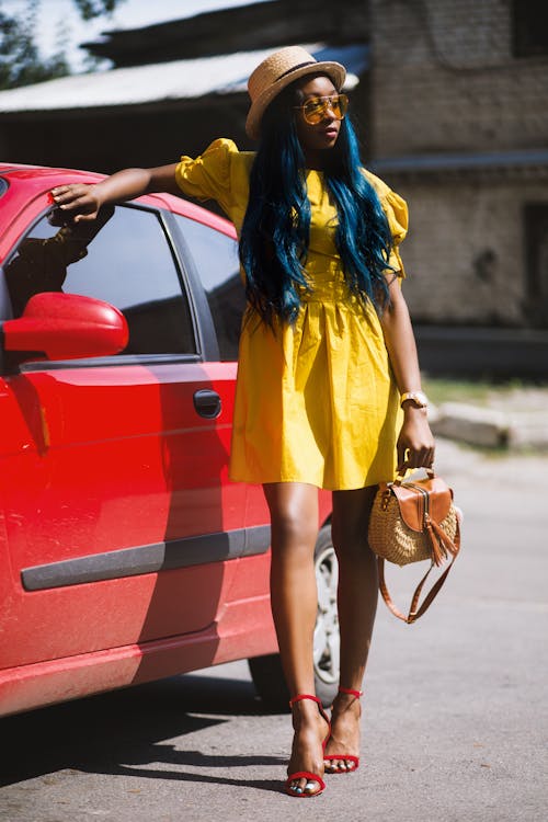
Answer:
[[[339, 616], [336, 585], [339, 564], [331, 541], [331, 526], [326, 525], [318, 535], [315, 550], [316, 581], [318, 585], [318, 614], [313, 631], [313, 673], [316, 695], [329, 707], [339, 685]], [[254, 657], [249, 661], [256, 693], [271, 710], [286, 710], [289, 692], [278, 653]]]

